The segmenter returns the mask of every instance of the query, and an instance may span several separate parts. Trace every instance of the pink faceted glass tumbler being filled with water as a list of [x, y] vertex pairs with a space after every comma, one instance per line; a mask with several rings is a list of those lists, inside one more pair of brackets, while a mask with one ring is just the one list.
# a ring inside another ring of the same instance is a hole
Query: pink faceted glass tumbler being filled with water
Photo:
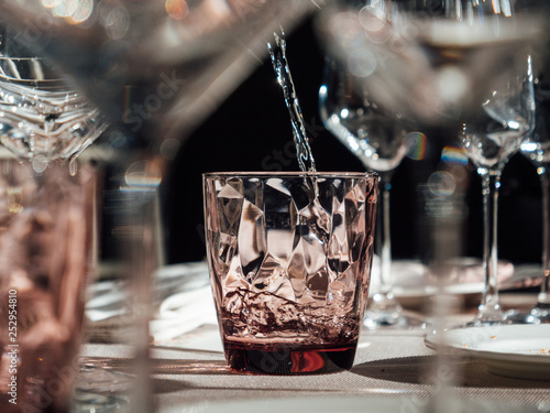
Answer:
[[237, 371], [351, 369], [369, 292], [377, 176], [204, 175], [207, 253]]

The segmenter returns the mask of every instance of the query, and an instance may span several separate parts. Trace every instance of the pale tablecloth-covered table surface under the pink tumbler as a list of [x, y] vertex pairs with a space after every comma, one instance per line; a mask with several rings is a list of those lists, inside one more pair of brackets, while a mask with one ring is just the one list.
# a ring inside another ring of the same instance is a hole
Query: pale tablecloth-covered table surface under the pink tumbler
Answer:
[[[502, 300], [508, 306], [528, 307], [535, 297], [506, 294]], [[426, 333], [363, 330], [350, 371], [280, 377], [231, 372], [226, 367], [217, 326], [205, 325], [152, 346], [152, 400], [158, 412], [267, 413], [297, 406], [300, 411], [354, 412], [370, 406], [369, 411], [376, 412], [421, 412], [429, 401], [447, 401], [451, 394], [459, 403], [488, 403], [464, 411], [550, 412], [550, 378], [499, 377], [476, 360], [438, 356], [425, 345]], [[112, 371], [128, 369], [131, 361], [127, 351], [122, 345], [82, 347], [87, 362]], [[140, 394], [143, 392], [141, 389]], [[447, 412], [448, 407], [447, 401], [439, 411]]]

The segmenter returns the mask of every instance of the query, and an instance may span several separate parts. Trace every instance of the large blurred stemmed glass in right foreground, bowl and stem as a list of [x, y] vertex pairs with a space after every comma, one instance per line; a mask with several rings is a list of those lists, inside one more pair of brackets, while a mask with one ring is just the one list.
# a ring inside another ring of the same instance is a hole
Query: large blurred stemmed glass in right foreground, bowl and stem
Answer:
[[[516, 61], [544, 37], [548, 6], [546, 1], [515, 0], [343, 0], [332, 10], [324, 9], [318, 28], [328, 53], [348, 67], [378, 106], [438, 128], [441, 146], [457, 148], [459, 130], [483, 110], [494, 84], [512, 79]], [[444, 162], [440, 166], [442, 171], [430, 178], [444, 173], [444, 191], [438, 191], [431, 211], [426, 204], [425, 213], [430, 269], [437, 279], [430, 314], [438, 340], [444, 344], [440, 333], [455, 326], [451, 316], [460, 306], [460, 296], [451, 295], [448, 286], [452, 276], [449, 261], [463, 252], [460, 224], [465, 180]], [[449, 366], [446, 352], [438, 352], [433, 376]], [[444, 382], [424, 410], [447, 409], [454, 389], [454, 380]]]

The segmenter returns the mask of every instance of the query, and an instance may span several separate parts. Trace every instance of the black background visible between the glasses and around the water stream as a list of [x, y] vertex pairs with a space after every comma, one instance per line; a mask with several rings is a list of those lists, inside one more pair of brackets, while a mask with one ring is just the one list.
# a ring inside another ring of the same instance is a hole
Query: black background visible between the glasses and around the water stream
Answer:
[[[323, 54], [311, 21], [287, 35], [287, 56], [311, 139], [318, 171], [364, 171], [363, 165], [322, 128], [317, 95]], [[422, 130], [429, 152], [424, 161], [405, 159], [392, 188], [394, 258], [429, 254], [421, 229], [424, 215], [418, 187], [435, 171], [440, 142], [454, 131]], [[296, 171], [289, 116], [268, 59], [207, 121], [184, 141], [163, 183], [165, 242], [168, 263], [205, 257], [201, 174], [215, 171]], [[430, 149], [431, 148], [431, 149]], [[470, 167], [464, 224], [464, 254], [482, 254], [481, 184]], [[506, 166], [499, 197], [499, 257], [515, 263], [541, 257], [540, 184], [535, 167], [520, 154]]]

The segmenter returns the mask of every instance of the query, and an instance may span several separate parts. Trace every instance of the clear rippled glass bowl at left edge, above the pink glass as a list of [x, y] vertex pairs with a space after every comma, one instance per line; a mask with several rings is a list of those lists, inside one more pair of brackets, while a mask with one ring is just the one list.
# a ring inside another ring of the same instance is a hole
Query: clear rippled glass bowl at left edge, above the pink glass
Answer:
[[0, 142], [18, 159], [76, 157], [107, 127], [44, 58], [0, 56]]

